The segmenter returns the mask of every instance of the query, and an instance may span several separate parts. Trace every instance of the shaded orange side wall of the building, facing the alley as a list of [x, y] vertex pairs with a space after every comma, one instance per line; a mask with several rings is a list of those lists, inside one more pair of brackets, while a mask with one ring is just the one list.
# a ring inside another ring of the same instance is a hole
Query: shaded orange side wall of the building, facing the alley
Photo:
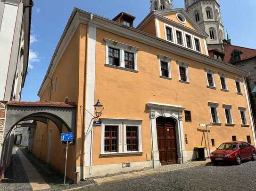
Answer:
[[[52, 95], [49, 94], [51, 88], [51, 81], [47, 85], [46, 90], [43, 92], [41, 101], [59, 101], [63, 102], [68, 97], [69, 102], [75, 102], [77, 105], [77, 127], [76, 128], [76, 143], [70, 145], [68, 148], [67, 160], [67, 176], [74, 179], [74, 167], [81, 166], [82, 156], [82, 136], [83, 136], [83, 83], [84, 83], [84, 70], [85, 70], [85, 43], [86, 43], [86, 27], [80, 26], [74, 33], [73, 38], [68, 43], [66, 51], [59, 60], [58, 67], [56, 68], [53, 79]], [[55, 91], [55, 79], [57, 77], [57, 90]], [[51, 97], [51, 99], [50, 99]], [[82, 107], [80, 107], [82, 106]], [[48, 138], [50, 129], [51, 133], [51, 147], [48, 153]], [[41, 140], [43, 139], [43, 140]], [[34, 133], [34, 148], [33, 153], [47, 162], [48, 154], [50, 154], [50, 165], [58, 171], [64, 173], [65, 167], [65, 149], [66, 145], [60, 142], [60, 135], [58, 129], [52, 122], [43, 124], [38, 123]]]

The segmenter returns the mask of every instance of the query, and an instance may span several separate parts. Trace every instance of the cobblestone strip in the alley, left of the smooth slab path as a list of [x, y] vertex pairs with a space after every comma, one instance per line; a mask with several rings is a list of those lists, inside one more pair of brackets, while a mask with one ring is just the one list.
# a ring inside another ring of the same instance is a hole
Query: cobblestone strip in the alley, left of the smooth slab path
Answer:
[[32, 191], [21, 160], [17, 154], [12, 155], [10, 166], [5, 171], [6, 179], [0, 183], [0, 191]]

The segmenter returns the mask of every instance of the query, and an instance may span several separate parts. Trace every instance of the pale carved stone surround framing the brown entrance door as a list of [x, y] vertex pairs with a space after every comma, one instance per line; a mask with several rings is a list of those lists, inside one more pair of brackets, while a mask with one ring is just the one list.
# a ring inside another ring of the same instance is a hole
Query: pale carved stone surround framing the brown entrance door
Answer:
[[182, 123], [182, 112], [185, 109], [182, 106], [175, 106], [165, 103], [149, 102], [149, 118], [151, 125], [151, 138], [152, 138], [152, 161], [153, 167], [157, 168], [161, 166], [159, 160], [159, 151], [157, 145], [157, 117], [171, 117], [176, 121], [176, 143], [177, 143], [177, 163], [187, 162], [187, 156], [185, 151], [184, 131]]

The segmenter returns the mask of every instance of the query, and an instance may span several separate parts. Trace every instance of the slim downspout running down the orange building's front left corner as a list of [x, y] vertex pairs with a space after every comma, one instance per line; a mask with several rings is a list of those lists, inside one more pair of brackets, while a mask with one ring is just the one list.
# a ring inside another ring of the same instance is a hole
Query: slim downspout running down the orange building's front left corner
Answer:
[[[82, 144], [82, 160], [81, 160], [81, 162], [82, 162], [82, 169], [84, 168], [84, 164], [85, 164], [85, 161], [84, 161], [84, 159], [85, 159], [85, 157], [84, 157], [84, 155], [85, 155], [85, 153], [84, 153], [84, 148], [85, 148], [85, 134], [86, 134], [86, 132], [85, 132], [85, 127], [84, 127], [84, 123], [85, 123], [85, 120], [84, 120], [84, 118], [85, 118], [85, 108], [86, 108], [86, 106], [85, 106], [85, 98], [86, 98], [86, 71], [87, 71], [87, 62], [88, 62], [88, 39], [89, 39], [89, 30], [88, 30], [88, 28], [89, 28], [89, 25], [90, 25], [90, 23], [91, 23], [91, 21], [92, 21], [92, 19], [93, 19], [93, 15], [91, 14], [91, 18], [90, 18], [90, 21], [88, 22], [88, 25], [87, 25], [87, 33], [86, 33], [86, 47], [85, 47], [85, 68], [84, 68], [84, 74], [85, 74], [85, 76], [84, 76], [84, 78], [83, 78], [83, 84], [84, 84], [84, 88], [83, 88], [83, 130], [82, 130], [82, 132], [83, 132], [83, 134], [82, 134], [82, 140], [83, 140], [83, 144]], [[82, 177], [82, 179], [84, 179], [84, 172], [82, 171], [82, 173], [81, 173], [82, 175], [80, 175], [81, 177]]]

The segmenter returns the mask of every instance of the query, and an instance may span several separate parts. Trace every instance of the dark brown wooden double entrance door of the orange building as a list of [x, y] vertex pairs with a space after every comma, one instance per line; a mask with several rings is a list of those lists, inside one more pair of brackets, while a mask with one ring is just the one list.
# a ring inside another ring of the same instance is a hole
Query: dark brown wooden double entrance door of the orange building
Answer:
[[177, 163], [175, 124], [171, 118], [157, 118], [157, 143], [162, 165]]

